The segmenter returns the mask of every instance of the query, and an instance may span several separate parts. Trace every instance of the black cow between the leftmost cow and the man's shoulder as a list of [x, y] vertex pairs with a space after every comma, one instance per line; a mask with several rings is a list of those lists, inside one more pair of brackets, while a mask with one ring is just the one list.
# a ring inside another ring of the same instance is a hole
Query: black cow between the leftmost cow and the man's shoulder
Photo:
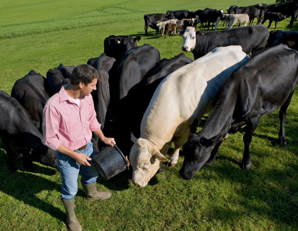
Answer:
[[28, 111], [35, 127], [42, 133], [42, 113], [49, 99], [46, 78], [31, 70], [23, 78], [15, 81], [10, 96]]

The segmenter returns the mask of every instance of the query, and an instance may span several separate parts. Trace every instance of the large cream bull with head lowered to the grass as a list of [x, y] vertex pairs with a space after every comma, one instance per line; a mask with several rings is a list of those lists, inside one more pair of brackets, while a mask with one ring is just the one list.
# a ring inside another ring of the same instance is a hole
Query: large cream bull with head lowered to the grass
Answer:
[[[164, 161], [176, 165], [179, 149], [191, 134], [190, 124], [198, 124], [202, 115], [212, 111], [224, 81], [247, 60], [240, 46], [219, 47], [164, 78], [143, 116], [140, 138], [131, 137], [134, 185], [145, 187]], [[167, 159], [164, 154], [173, 139], [175, 148]]]

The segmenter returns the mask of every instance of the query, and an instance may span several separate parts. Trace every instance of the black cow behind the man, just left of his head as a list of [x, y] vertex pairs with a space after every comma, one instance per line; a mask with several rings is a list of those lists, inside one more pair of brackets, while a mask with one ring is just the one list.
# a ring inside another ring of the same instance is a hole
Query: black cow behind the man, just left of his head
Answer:
[[60, 91], [61, 87], [65, 84], [70, 83], [70, 75], [75, 69], [75, 66], [64, 66], [60, 65], [54, 69], [49, 69], [46, 73], [46, 81], [52, 89], [49, 93], [49, 97]]

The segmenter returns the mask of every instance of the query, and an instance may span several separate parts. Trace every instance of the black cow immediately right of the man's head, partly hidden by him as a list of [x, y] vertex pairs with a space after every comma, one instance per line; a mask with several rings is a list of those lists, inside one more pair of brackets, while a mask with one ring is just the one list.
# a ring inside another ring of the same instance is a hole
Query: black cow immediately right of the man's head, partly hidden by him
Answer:
[[[102, 53], [97, 58], [91, 58], [87, 64], [93, 66], [97, 69], [99, 73], [99, 78], [96, 83], [96, 90], [91, 92], [94, 109], [96, 112], [97, 121], [101, 124], [101, 130], [105, 135], [108, 134], [111, 129], [108, 124], [108, 106], [110, 104], [110, 86], [109, 78], [113, 78], [116, 73], [115, 58], [108, 57], [105, 53]], [[108, 126], [108, 127], [107, 127]], [[100, 142], [98, 142], [100, 141]], [[102, 150], [106, 145], [98, 137], [92, 133], [92, 143], [94, 145], [95, 151]], [[98, 146], [98, 148], [97, 148]]]

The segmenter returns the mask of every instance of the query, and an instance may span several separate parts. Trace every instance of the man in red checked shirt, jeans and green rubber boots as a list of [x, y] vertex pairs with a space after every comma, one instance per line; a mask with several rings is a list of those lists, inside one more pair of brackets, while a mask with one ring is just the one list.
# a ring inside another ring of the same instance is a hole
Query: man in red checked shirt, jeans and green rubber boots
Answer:
[[49, 98], [43, 112], [44, 144], [56, 150], [62, 183], [61, 199], [71, 231], [82, 230], [74, 211], [79, 172], [88, 200], [106, 200], [111, 197], [109, 192], [97, 191], [98, 172], [91, 161], [95, 156], [91, 143], [92, 131], [105, 144], [115, 144], [114, 138], [103, 135], [96, 119], [90, 93], [96, 90], [98, 77], [94, 67], [88, 64], [77, 66], [70, 76], [71, 83], [63, 85], [58, 93]]

